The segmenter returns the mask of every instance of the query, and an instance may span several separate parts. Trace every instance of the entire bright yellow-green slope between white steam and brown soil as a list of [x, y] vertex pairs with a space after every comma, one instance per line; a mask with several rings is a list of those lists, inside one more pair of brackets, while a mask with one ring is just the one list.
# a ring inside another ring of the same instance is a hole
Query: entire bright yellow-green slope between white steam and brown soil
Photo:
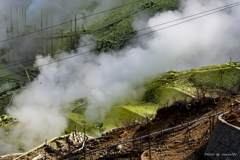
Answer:
[[203, 94], [216, 96], [211, 91], [218, 91], [217, 93], [225, 90], [236, 91], [239, 88], [239, 79], [240, 68], [229, 64], [206, 66], [180, 72], [169, 71], [145, 84], [146, 94], [141, 101], [112, 107], [102, 125], [86, 123], [84, 117], [87, 106], [86, 99], [82, 99], [81, 103], [74, 103], [72, 105], [74, 109], [69, 116], [70, 122], [67, 132], [74, 130], [76, 122], [79, 130], [86, 125], [88, 134], [99, 136], [104, 130], [126, 126], [134, 121], [142, 121], [145, 120], [145, 117], [153, 118], [158, 108], [170, 106], [177, 100], [188, 101], [192, 97]]

